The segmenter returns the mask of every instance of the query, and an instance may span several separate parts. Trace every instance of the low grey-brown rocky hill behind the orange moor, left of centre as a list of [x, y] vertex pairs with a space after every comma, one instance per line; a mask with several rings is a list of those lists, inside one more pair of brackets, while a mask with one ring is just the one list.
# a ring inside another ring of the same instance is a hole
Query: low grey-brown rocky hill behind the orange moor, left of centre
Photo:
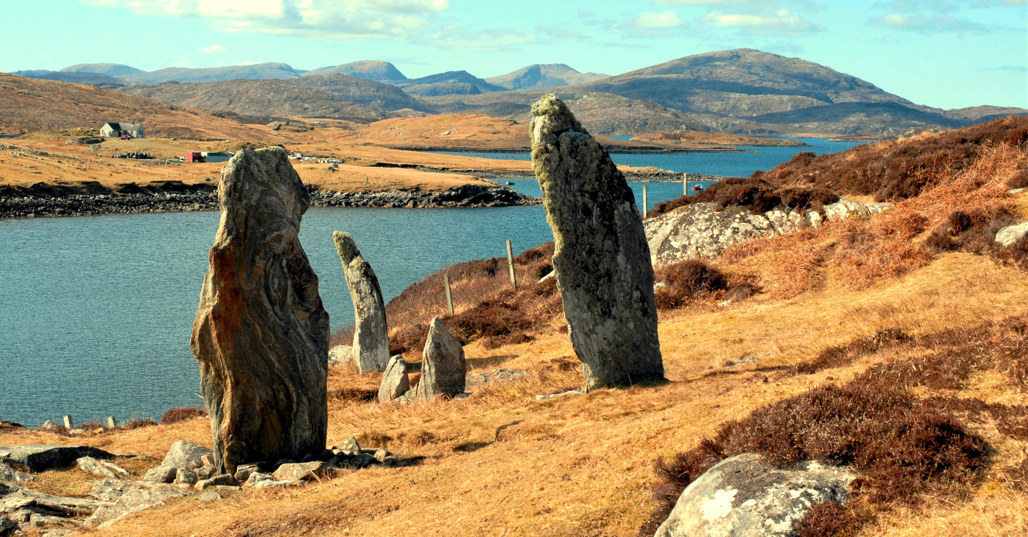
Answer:
[[249, 116], [324, 117], [364, 123], [386, 118], [386, 114], [374, 108], [342, 101], [286, 80], [164, 82], [125, 86], [119, 91], [178, 106]]

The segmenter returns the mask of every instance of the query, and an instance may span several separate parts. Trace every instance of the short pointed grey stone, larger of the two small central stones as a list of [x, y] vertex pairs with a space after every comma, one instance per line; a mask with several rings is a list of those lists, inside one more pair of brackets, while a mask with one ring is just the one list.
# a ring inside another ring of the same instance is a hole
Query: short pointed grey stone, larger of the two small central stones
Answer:
[[421, 352], [421, 380], [414, 387], [414, 399], [431, 399], [437, 395], [464, 393], [468, 366], [464, 349], [446, 330], [438, 317], [429, 326], [429, 338]]

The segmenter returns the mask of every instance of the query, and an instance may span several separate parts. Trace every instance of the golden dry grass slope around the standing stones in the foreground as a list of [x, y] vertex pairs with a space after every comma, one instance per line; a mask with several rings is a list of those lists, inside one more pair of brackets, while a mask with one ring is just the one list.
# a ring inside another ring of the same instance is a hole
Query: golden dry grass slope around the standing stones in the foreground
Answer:
[[[988, 255], [920, 249], [955, 209], [1002, 207], [1028, 216], [1028, 195], [1008, 195], [1004, 184], [1022, 159], [1021, 151], [994, 146], [941, 186], [882, 215], [731, 250], [715, 265], [758, 277], [763, 292], [727, 308], [697, 300], [664, 311], [660, 337], [668, 384], [537, 402], [536, 394], [581, 384], [559, 316], [537, 327], [528, 343], [491, 350], [481, 342], [467, 346], [475, 369], [502, 364], [535, 374], [463, 400], [378, 405], [368, 398], [379, 375], [335, 368], [329, 379], [329, 442], [355, 434], [364, 444], [386, 443], [418, 464], [345, 473], [300, 490], [245, 492], [215, 504], [183, 500], [93, 535], [635, 535], [655, 505], [649, 487], [658, 456], [689, 450], [720, 424], [762, 404], [844, 383], [872, 364], [923, 351], [883, 349], [810, 374], [784, 375], [786, 368], [885, 328], [917, 337], [1028, 316], [1028, 278], [1016, 265]], [[530, 277], [520, 277], [527, 288]], [[475, 289], [481, 286], [471, 280], [454, 285], [456, 294]], [[471, 296], [457, 302], [458, 314], [475, 306]], [[441, 309], [440, 296], [438, 309], [423, 314]], [[761, 360], [726, 365], [746, 356]], [[972, 371], [953, 394], [1028, 404], [1028, 393], [1004, 374]], [[1000, 434], [988, 422], [971, 426], [995, 453], [992, 469], [968, 497], [929, 497], [918, 510], [887, 509], [861, 535], [1028, 532], [1025, 484], [1016, 490], [1003, 473], [1026, 464], [1028, 441]], [[81, 441], [149, 455], [155, 465], [181, 438], [210, 444], [207, 423], [197, 419]], [[54, 441], [68, 440], [0, 430], [0, 443]], [[67, 474], [49, 473], [40, 488], [76, 490]]]

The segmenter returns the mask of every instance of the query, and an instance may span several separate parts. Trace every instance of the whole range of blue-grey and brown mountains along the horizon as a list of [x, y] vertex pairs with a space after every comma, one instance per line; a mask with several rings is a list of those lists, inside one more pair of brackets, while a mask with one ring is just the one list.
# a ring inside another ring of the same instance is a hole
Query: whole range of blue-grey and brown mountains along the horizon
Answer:
[[586, 127], [603, 135], [694, 130], [894, 137], [1028, 114], [989, 105], [956, 110], [918, 105], [829, 67], [751, 48], [689, 56], [616, 76], [536, 64], [488, 78], [467, 71], [407, 78], [380, 61], [310, 71], [282, 63], [152, 72], [120, 64], [80, 64], [12, 74], [247, 116], [359, 122], [436, 113], [480, 113], [523, 122], [534, 101], [556, 93]]

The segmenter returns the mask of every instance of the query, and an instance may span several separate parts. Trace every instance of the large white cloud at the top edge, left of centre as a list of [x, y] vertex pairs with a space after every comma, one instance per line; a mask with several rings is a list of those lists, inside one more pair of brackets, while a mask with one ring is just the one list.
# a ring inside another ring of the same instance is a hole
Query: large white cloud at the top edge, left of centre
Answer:
[[406, 38], [449, 7], [448, 0], [84, 0], [141, 14], [194, 16], [225, 32], [325, 40]]

